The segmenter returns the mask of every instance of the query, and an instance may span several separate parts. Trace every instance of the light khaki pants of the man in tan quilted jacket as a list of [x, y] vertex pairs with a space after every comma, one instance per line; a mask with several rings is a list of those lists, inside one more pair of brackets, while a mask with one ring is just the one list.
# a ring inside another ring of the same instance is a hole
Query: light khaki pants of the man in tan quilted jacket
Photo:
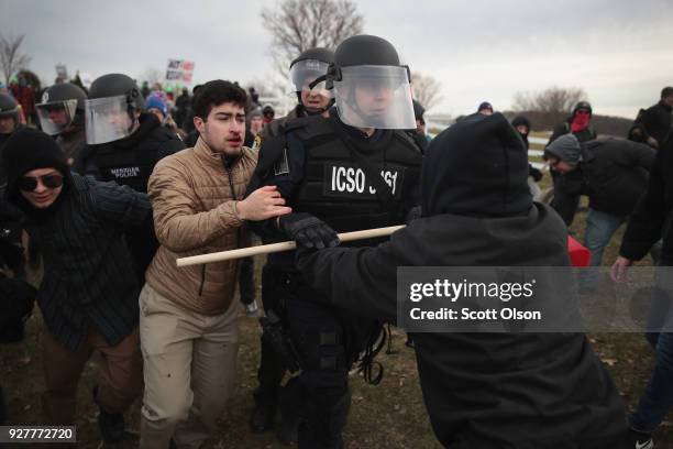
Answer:
[[143, 287], [142, 449], [167, 449], [172, 438], [178, 448], [198, 448], [216, 430], [234, 384], [238, 304], [222, 315], [201, 315]]

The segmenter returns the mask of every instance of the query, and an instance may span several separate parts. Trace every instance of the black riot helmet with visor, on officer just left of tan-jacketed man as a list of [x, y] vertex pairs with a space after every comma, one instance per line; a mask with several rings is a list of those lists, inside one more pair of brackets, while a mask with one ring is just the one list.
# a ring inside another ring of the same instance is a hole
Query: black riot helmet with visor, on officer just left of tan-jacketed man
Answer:
[[137, 84], [122, 74], [93, 80], [86, 101], [87, 143], [99, 144], [130, 135], [145, 101]]

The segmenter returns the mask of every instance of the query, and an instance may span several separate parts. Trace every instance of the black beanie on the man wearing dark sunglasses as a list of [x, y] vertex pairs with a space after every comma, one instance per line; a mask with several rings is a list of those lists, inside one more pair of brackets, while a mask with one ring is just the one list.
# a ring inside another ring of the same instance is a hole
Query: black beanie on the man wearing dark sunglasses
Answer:
[[56, 168], [65, 179], [69, 178], [68, 163], [53, 138], [42, 131], [23, 128], [14, 132], [2, 149], [2, 163], [7, 172], [7, 195], [18, 193], [16, 182], [36, 168]]

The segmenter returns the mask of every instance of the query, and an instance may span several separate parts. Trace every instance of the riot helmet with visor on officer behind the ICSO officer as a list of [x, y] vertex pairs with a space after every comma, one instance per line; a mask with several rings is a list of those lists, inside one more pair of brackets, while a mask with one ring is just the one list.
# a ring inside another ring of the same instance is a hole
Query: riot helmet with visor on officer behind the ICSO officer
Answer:
[[[290, 63], [290, 80], [297, 101], [309, 116], [324, 112], [332, 105], [331, 92], [326, 88], [327, 72], [334, 61], [334, 53], [327, 48], [309, 48]], [[302, 101], [305, 92], [307, 101]]]

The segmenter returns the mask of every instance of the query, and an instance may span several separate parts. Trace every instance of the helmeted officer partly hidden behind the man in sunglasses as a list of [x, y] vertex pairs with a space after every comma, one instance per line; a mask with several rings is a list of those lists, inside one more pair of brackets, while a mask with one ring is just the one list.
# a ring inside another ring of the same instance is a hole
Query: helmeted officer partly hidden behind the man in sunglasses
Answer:
[[42, 131], [56, 136], [66, 160], [73, 164], [85, 145], [85, 101], [87, 94], [71, 83], [56, 84], [42, 95], [35, 105]]

